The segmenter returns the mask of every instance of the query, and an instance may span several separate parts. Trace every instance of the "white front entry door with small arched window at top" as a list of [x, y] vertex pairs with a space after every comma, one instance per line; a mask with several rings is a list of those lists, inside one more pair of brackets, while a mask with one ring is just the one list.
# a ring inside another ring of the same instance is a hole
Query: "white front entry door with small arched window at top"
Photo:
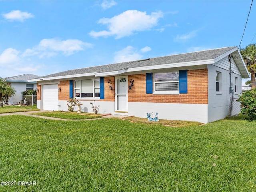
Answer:
[[116, 112], [127, 112], [128, 106], [128, 84], [127, 84], [127, 76], [116, 77]]

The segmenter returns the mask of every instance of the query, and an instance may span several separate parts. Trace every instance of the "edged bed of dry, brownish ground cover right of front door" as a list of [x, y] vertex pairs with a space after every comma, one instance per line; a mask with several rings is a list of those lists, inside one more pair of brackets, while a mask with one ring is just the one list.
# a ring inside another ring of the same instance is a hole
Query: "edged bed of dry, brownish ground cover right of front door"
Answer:
[[189, 127], [189, 126], [202, 125], [202, 123], [195, 122], [195, 121], [179, 121], [179, 120], [164, 120], [164, 119], [160, 119], [159, 121], [148, 121], [147, 118], [139, 118], [135, 116], [123, 117], [122, 119], [129, 120], [135, 123], [157, 124], [157, 125], [172, 126], [172, 127]]

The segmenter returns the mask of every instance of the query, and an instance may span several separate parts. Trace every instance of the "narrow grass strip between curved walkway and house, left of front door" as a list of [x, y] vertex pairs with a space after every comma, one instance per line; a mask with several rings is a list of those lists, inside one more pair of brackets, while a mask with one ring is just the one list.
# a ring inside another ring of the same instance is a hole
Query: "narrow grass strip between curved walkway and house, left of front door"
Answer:
[[88, 114], [78, 114], [77, 112], [64, 112], [64, 111], [53, 111], [53, 112], [38, 112], [38, 113], [32, 113], [33, 115], [38, 116], [46, 116], [46, 117], [54, 117], [54, 118], [60, 118], [60, 119], [95, 119], [95, 118], [102, 118], [102, 116], [99, 115], [88, 115]]

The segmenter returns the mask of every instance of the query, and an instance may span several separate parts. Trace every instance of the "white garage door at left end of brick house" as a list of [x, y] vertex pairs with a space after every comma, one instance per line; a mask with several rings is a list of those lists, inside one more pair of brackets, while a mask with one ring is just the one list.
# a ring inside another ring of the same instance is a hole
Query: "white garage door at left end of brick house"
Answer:
[[58, 111], [58, 84], [43, 85], [44, 110]]

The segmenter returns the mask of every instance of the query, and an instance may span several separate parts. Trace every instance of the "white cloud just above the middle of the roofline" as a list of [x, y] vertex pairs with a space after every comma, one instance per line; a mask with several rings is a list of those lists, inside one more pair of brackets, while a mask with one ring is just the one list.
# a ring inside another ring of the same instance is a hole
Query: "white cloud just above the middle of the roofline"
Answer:
[[114, 62], [128, 62], [142, 59], [142, 55], [136, 52], [136, 49], [132, 46], [127, 46], [126, 48], [115, 52]]

